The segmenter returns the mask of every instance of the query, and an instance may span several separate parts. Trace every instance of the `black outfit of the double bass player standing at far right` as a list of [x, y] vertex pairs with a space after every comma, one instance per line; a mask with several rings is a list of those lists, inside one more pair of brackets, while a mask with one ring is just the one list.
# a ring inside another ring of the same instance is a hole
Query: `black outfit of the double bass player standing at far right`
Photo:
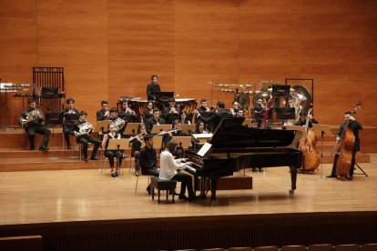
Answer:
[[[343, 133], [345, 128], [345, 124], [341, 125], [339, 128], [338, 134], [336, 135], [337, 138], [341, 138], [341, 134]], [[362, 124], [360, 124], [358, 121], [353, 120], [350, 122], [348, 125], [348, 128], [350, 128], [353, 132], [353, 135], [355, 136], [355, 143], [352, 148], [352, 161], [351, 161], [351, 167], [350, 167], [350, 173], [348, 176], [349, 180], [352, 180], [353, 178], [353, 169], [355, 168], [355, 163], [356, 163], [356, 154], [357, 152], [360, 151], [360, 137], [359, 137], [359, 131], [362, 130]], [[334, 157], [334, 163], [332, 164], [332, 170], [331, 170], [331, 175], [328, 177], [336, 177], [336, 163], [338, 161], [338, 154], [335, 154]]]

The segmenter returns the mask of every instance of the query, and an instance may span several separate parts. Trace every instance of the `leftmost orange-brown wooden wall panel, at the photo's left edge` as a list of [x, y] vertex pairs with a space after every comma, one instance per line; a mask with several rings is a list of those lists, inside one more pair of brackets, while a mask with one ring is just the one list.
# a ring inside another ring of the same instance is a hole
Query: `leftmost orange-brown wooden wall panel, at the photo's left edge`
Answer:
[[[0, 1], [0, 78], [6, 83], [32, 83], [36, 64], [36, 1]], [[1, 94], [1, 125], [15, 125], [22, 98]], [[7, 104], [5, 100], [7, 99]], [[7, 107], [8, 116], [5, 117]]]

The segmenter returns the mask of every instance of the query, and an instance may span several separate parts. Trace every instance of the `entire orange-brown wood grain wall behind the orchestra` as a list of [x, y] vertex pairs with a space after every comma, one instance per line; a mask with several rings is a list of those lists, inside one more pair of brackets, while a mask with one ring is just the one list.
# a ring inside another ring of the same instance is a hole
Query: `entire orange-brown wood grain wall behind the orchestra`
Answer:
[[[145, 98], [157, 74], [179, 97], [229, 105], [233, 96], [206, 82], [313, 78], [321, 123], [341, 123], [361, 100], [358, 118], [377, 126], [373, 0], [3, 0], [0, 14], [3, 81], [31, 82], [32, 66], [64, 66], [66, 95], [91, 120], [103, 99]], [[10, 102], [14, 124], [22, 102]]]

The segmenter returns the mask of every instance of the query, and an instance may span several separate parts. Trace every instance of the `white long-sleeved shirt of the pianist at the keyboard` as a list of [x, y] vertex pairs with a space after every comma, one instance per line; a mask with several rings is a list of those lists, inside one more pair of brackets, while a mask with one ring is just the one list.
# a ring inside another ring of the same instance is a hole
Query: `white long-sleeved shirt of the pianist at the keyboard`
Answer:
[[171, 179], [177, 175], [177, 169], [185, 169], [189, 163], [181, 163], [180, 159], [174, 159], [174, 156], [168, 151], [162, 151], [159, 156], [159, 178]]

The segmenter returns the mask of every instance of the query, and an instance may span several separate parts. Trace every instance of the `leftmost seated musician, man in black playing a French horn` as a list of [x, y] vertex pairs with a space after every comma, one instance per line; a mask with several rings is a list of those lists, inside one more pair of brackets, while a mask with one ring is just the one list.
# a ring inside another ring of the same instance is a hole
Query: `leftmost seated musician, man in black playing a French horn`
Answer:
[[30, 150], [35, 150], [35, 137], [36, 134], [43, 135], [39, 151], [46, 152], [48, 150], [48, 140], [50, 138], [51, 131], [43, 125], [45, 116], [41, 109], [36, 108], [36, 100], [29, 99], [27, 101], [27, 109], [22, 112], [20, 122], [25, 128], [25, 133], [30, 142]]

